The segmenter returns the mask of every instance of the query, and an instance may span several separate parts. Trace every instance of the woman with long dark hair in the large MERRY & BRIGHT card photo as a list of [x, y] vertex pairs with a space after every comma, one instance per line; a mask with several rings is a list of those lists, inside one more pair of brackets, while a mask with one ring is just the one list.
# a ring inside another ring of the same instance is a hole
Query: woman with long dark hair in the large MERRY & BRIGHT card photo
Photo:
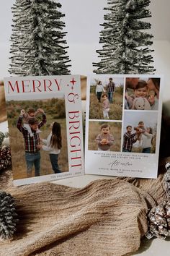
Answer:
[[48, 135], [47, 140], [41, 139], [45, 145], [38, 145], [37, 148], [48, 151], [50, 155], [50, 163], [55, 174], [61, 173], [58, 166], [58, 155], [61, 153], [62, 137], [61, 137], [61, 124], [54, 121], [50, 128], [52, 131]]

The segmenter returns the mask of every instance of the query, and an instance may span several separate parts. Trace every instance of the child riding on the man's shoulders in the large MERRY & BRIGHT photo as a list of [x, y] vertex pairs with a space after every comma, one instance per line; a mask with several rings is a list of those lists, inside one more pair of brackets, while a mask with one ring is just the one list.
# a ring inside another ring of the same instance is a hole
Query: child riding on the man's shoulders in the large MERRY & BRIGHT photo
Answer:
[[[35, 111], [34, 108], [29, 108], [27, 112], [25, 112], [24, 109], [22, 109], [20, 112], [20, 116], [23, 117], [23, 122], [24, 122], [23, 127], [27, 129], [27, 131], [30, 134], [30, 137], [33, 137], [33, 134], [29, 124], [29, 120], [32, 118], [35, 118], [40, 113], [41, 113], [40, 108], [38, 108], [37, 111]], [[37, 133], [39, 132], [40, 132], [40, 129], [37, 128]]]

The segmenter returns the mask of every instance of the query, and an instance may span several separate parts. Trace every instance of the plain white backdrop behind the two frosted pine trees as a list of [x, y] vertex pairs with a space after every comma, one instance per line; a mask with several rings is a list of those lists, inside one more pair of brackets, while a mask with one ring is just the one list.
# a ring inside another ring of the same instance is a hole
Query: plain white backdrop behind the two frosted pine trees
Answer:
[[[7, 0], [1, 3], [0, 15], [0, 80], [8, 76], [9, 67], [9, 38], [12, 33], [12, 12], [11, 7], [14, 0]], [[93, 71], [92, 62], [97, 59], [96, 50], [99, 45], [99, 26], [104, 22], [104, 7], [107, 7], [107, 0], [61, 0], [61, 12], [66, 14], [65, 31], [68, 32], [66, 40], [68, 43], [68, 55], [71, 59], [72, 74], [90, 74]], [[169, 30], [169, 0], [151, 1], [150, 9], [152, 17], [149, 20], [152, 24], [153, 33], [153, 58], [155, 61], [156, 73], [164, 74], [164, 102], [170, 101], [170, 30]], [[170, 104], [169, 104], [170, 105]], [[170, 106], [169, 114], [170, 114]]]

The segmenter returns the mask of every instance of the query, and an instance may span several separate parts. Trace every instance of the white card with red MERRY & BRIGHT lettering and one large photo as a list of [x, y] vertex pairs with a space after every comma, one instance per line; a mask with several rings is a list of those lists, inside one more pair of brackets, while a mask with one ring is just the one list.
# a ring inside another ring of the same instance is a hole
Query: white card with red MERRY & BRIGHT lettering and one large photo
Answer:
[[84, 174], [79, 75], [6, 77], [14, 185]]

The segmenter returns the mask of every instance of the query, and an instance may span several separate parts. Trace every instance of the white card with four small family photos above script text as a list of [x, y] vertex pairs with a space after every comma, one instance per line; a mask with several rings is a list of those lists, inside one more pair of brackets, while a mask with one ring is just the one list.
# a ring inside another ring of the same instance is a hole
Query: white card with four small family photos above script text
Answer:
[[157, 177], [161, 91], [158, 75], [88, 77], [86, 174]]

